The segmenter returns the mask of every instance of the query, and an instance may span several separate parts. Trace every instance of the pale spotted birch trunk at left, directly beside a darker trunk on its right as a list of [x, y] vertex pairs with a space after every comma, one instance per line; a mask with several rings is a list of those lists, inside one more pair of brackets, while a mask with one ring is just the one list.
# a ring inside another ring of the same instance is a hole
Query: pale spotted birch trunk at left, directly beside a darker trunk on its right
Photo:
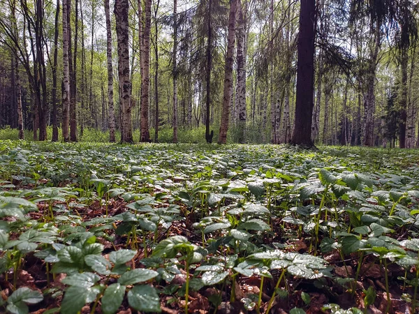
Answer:
[[67, 1], [63, 0], [63, 123], [62, 132], [64, 142], [70, 142], [70, 134], [68, 133], [68, 126], [70, 122], [70, 75], [68, 64], [68, 27], [67, 27]]

